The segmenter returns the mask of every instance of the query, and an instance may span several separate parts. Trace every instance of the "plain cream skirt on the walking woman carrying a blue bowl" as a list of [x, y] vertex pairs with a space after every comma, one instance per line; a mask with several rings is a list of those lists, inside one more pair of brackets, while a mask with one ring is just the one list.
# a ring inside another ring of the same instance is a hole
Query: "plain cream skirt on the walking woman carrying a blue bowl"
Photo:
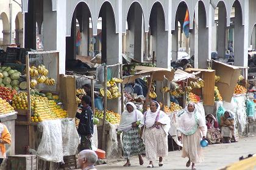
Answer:
[[204, 155], [200, 145], [201, 131], [198, 129], [193, 135], [182, 135], [182, 157], [188, 157], [192, 163], [204, 161]]

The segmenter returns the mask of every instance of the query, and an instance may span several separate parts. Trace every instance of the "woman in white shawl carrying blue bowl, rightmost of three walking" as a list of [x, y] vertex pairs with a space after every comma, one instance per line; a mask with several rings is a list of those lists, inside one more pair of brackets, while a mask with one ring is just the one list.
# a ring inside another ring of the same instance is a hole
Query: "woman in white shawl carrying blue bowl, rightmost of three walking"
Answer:
[[205, 140], [207, 126], [194, 103], [188, 103], [180, 115], [177, 134], [178, 140], [183, 143], [182, 157], [188, 157], [186, 166], [190, 167], [192, 163], [191, 169], [196, 169], [194, 164], [204, 160], [200, 141]]

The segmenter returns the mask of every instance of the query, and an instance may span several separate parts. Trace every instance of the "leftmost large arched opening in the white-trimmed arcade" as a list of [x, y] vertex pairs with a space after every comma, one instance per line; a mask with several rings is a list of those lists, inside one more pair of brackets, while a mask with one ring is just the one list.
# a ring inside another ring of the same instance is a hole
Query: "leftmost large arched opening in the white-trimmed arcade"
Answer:
[[66, 70], [88, 69], [90, 38], [92, 37], [91, 12], [85, 2], [79, 2], [71, 21], [71, 36], [66, 37]]

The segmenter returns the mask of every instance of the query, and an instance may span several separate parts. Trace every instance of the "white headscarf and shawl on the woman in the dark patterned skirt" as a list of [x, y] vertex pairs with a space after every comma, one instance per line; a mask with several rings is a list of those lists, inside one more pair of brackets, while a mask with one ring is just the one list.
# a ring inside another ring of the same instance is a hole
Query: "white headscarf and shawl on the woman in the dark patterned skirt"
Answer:
[[[132, 112], [127, 111], [127, 104], [130, 104], [133, 107]], [[118, 127], [118, 131], [128, 131], [132, 128], [132, 123], [143, 120], [143, 114], [140, 110], [137, 110], [137, 107], [132, 102], [126, 103], [126, 110], [124, 110], [121, 115], [121, 121]]]

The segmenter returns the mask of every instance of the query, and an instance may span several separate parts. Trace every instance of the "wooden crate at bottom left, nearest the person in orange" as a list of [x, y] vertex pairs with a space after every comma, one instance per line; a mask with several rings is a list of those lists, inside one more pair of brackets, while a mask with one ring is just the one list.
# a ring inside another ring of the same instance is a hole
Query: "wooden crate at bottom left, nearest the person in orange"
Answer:
[[13, 155], [7, 160], [7, 169], [9, 170], [37, 170], [37, 155]]

